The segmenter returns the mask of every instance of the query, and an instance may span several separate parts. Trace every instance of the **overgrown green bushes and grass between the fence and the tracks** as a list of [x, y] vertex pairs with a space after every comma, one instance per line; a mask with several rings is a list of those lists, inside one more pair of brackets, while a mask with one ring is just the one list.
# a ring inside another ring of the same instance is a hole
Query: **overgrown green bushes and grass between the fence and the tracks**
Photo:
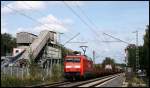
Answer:
[[[23, 87], [36, 85], [41, 83], [51, 83], [63, 80], [63, 72], [59, 64], [55, 64], [52, 68], [52, 74], [46, 75], [48, 72], [44, 73], [43, 69], [40, 69], [36, 63], [31, 63], [29, 67], [29, 76], [24, 76], [22, 78], [17, 78], [16, 76], [1, 74], [1, 86], [2, 87]], [[44, 80], [43, 80], [44, 78]]]

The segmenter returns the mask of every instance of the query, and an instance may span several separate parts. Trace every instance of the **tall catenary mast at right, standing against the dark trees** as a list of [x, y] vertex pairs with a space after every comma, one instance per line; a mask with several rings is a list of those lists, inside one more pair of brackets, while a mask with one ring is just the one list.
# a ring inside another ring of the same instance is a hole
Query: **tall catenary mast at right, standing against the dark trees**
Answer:
[[139, 69], [138, 31], [135, 31], [133, 33], [136, 33], [136, 71], [138, 71]]

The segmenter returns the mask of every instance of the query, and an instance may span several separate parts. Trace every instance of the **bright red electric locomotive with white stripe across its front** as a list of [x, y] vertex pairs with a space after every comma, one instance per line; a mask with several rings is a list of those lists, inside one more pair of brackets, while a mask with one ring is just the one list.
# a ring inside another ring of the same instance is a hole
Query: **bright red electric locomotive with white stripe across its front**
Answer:
[[93, 76], [93, 62], [85, 55], [66, 56], [64, 74], [67, 79], [88, 78]]

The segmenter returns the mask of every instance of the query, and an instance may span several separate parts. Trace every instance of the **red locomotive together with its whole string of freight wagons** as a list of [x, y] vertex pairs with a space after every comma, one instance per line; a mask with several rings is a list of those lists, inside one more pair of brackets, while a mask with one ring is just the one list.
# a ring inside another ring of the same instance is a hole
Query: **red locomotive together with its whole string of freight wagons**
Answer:
[[64, 58], [64, 75], [68, 80], [94, 78], [122, 72], [121, 69], [106, 65], [105, 68], [94, 67], [93, 61], [86, 55], [68, 55]]

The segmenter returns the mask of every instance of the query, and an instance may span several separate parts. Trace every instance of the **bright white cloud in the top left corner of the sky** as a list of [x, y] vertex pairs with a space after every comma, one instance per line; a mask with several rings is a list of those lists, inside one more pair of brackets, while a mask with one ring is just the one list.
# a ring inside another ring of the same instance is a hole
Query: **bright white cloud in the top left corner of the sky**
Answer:
[[[15, 1], [7, 4], [8, 7], [17, 11], [39, 10], [46, 7], [45, 2], [42, 1]], [[3, 14], [12, 13], [13, 11], [4, 6], [1, 8]]]

